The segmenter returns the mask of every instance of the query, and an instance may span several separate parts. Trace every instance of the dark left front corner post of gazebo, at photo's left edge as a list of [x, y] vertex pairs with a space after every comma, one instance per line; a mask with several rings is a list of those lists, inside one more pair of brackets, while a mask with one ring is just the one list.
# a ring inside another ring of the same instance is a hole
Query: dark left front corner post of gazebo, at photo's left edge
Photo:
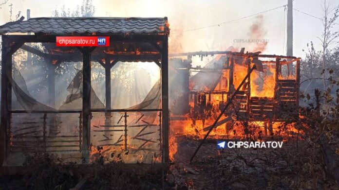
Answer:
[[8, 131], [11, 123], [12, 85], [12, 54], [10, 52], [8, 38], [2, 35], [1, 48], [1, 126], [0, 126], [0, 166], [7, 157]]

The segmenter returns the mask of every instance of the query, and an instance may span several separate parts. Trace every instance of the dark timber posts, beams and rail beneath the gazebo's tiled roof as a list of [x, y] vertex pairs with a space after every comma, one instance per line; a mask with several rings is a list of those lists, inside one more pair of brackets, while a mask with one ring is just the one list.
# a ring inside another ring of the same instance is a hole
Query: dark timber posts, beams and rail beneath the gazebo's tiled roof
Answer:
[[[11, 113], [26, 113], [26, 111], [12, 111], [12, 86], [10, 83], [12, 76], [12, 55], [15, 53], [20, 47], [24, 50], [29, 50], [30, 47], [25, 46], [24, 43], [56, 43], [57, 35], [46, 35], [46, 34], [35, 34], [35, 35], [2, 35], [2, 55], [1, 55], [1, 127], [0, 127], [0, 168], [2, 167], [3, 162], [5, 161], [8, 154], [8, 143], [9, 143], [9, 130], [11, 125]], [[88, 35], [84, 35], [88, 36]], [[169, 100], [168, 100], [168, 35], [112, 35], [112, 34], [100, 34], [91, 36], [110, 36], [110, 43], [114, 42], [150, 42], [151, 44], [156, 44], [156, 42], [162, 42], [162, 48], [157, 47], [159, 54], [150, 54], [150, 55], [112, 55], [112, 54], [103, 54], [103, 58], [105, 58], [105, 62], [107, 60], [113, 59], [113, 62], [110, 63], [110, 66], [105, 66], [106, 74], [108, 73], [108, 68], [111, 69], [113, 65], [118, 61], [138, 61], [138, 60], [148, 60], [149, 62], [155, 62], [161, 68], [161, 123], [162, 123], [162, 144], [161, 150], [162, 152], [162, 164], [165, 166], [169, 166]], [[138, 111], [138, 110], [112, 110], [110, 101], [106, 98], [106, 109], [95, 110], [91, 109], [91, 52], [94, 50], [93, 47], [83, 47], [79, 48], [80, 52], [82, 52], [82, 60], [83, 61], [83, 107], [81, 111], [70, 110], [66, 111], [66, 113], [78, 113], [82, 114], [82, 154], [85, 158], [88, 158], [89, 154], [89, 146], [90, 146], [90, 117], [91, 112], [103, 111]], [[31, 49], [31, 51], [34, 51]], [[44, 54], [42, 52], [36, 52], [36, 54], [40, 54], [40, 56], [44, 58], [49, 58], [49, 60], [53, 60], [52, 58], [56, 58], [54, 55]], [[75, 61], [74, 57], [57, 57], [57, 61], [60, 63], [62, 61]], [[93, 57], [92, 57], [93, 58]], [[97, 60], [93, 60], [97, 61]], [[159, 64], [159, 62], [161, 64]], [[145, 63], [147, 64], [147, 63]], [[51, 67], [52, 71], [55, 67]], [[52, 72], [50, 72], [52, 73]], [[53, 77], [53, 75], [52, 75]], [[109, 78], [110, 76], [106, 76]], [[106, 79], [107, 79], [106, 78]], [[52, 79], [51, 79], [52, 80]], [[110, 80], [106, 82], [106, 86], [109, 86]], [[111, 87], [111, 86], [109, 86]], [[49, 93], [53, 93], [54, 90], [49, 89]], [[107, 97], [111, 96], [110, 90], [106, 90]], [[109, 103], [109, 104], [107, 104]], [[147, 109], [142, 109], [139, 111], [148, 111]], [[159, 111], [158, 109], [149, 109], [149, 111]], [[39, 112], [39, 111], [35, 111]], [[32, 112], [34, 113], [34, 112]], [[41, 111], [41, 113], [47, 113], [45, 111]], [[59, 113], [59, 111], [53, 112]], [[65, 113], [65, 111], [60, 111], [60, 113]], [[86, 157], [87, 156], [87, 157]]]

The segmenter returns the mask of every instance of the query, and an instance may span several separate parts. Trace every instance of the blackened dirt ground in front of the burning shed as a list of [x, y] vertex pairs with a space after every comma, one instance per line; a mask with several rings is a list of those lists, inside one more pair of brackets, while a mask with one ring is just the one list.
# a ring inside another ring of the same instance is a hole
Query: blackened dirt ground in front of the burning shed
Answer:
[[[304, 183], [297, 175], [297, 168], [286, 161], [284, 155], [293, 154], [295, 140], [284, 142], [281, 149], [217, 149], [216, 140], [207, 139], [191, 164], [189, 158], [199, 144], [198, 140], [177, 137], [178, 152], [171, 165], [176, 187], [186, 186], [195, 190], [288, 190], [294, 183]], [[295, 177], [293, 177], [295, 175]], [[291, 177], [292, 176], [292, 177]], [[169, 185], [172, 184], [169, 178]], [[173, 185], [173, 184], [172, 184]], [[305, 187], [314, 189], [311, 184]], [[321, 181], [317, 189], [323, 189]], [[183, 188], [185, 189], [185, 188]], [[306, 188], [307, 189], [307, 188]], [[331, 187], [330, 189], [339, 189]]]

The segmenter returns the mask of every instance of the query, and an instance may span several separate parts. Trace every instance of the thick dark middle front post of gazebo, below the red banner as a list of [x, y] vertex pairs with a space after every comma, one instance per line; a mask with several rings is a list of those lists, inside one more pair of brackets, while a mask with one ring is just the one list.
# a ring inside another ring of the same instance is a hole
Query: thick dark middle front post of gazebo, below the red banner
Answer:
[[91, 52], [92, 48], [82, 49], [82, 157], [87, 162], [91, 144]]

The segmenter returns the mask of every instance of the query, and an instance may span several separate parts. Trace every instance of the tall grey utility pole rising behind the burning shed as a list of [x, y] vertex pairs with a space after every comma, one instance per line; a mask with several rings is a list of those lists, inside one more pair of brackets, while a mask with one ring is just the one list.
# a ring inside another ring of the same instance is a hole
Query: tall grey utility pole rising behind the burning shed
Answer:
[[[293, 56], [293, 0], [287, 3], [287, 56]], [[288, 64], [288, 74], [292, 74], [293, 63]]]

